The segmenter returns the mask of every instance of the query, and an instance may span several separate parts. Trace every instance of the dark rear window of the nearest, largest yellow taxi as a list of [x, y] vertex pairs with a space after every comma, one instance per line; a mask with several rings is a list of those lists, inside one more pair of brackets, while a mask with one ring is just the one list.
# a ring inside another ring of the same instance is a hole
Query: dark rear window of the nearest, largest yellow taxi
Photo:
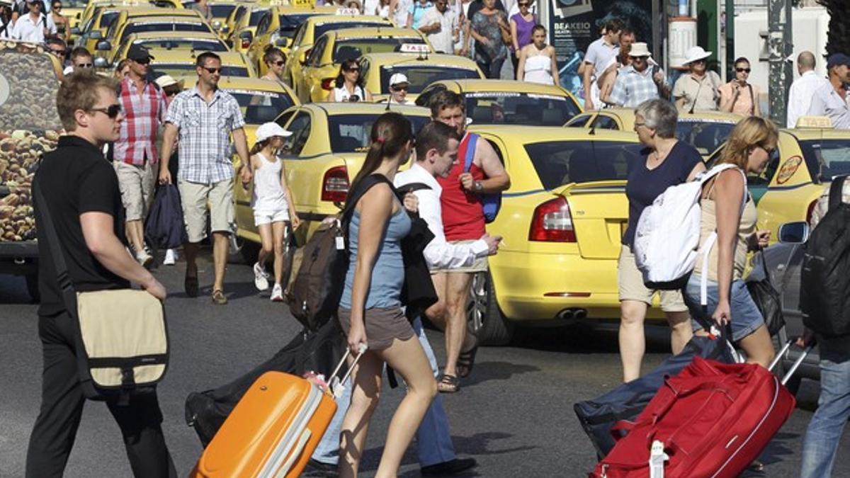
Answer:
[[544, 141], [525, 145], [541, 185], [547, 190], [570, 183], [627, 179], [629, 164], [642, 146], [618, 141]]

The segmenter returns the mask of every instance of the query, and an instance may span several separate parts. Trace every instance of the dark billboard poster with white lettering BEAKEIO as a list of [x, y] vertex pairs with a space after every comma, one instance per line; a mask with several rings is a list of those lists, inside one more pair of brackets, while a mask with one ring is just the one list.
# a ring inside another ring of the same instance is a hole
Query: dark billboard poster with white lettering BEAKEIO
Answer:
[[650, 0], [550, 0], [549, 36], [558, 56], [561, 86], [580, 100], [579, 65], [587, 45], [599, 38], [605, 22], [620, 18], [634, 31], [638, 42], [646, 42], [652, 50], [652, 2]]

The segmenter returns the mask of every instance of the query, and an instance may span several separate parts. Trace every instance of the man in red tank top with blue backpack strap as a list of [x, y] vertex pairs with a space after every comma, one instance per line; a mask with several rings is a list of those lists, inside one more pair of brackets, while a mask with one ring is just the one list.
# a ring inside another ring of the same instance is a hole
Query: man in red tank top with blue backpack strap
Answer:
[[[440, 207], [443, 213], [445, 239], [448, 242], [475, 242], [487, 235], [481, 195], [505, 191], [511, 185], [499, 156], [487, 141], [476, 141], [473, 162], [464, 171], [463, 153], [469, 145], [466, 132], [466, 110], [463, 97], [451, 91], [440, 92], [431, 99], [431, 117], [457, 128], [463, 139], [449, 176], [438, 178], [443, 188]], [[426, 311], [437, 327], [445, 330], [445, 369], [439, 378], [439, 391], [455, 392], [459, 377], [466, 377], [473, 367], [478, 348], [473, 337], [467, 340], [466, 301], [473, 275], [487, 271], [487, 259], [481, 258], [469, 267], [432, 270], [433, 285], [439, 302]], [[463, 351], [462, 351], [463, 350]]]

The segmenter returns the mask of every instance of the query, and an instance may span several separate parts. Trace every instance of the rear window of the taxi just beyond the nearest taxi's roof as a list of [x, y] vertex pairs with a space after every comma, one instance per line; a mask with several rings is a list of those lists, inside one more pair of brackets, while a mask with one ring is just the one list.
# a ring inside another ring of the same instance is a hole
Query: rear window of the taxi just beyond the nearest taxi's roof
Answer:
[[569, 97], [553, 94], [481, 92], [467, 93], [464, 99], [473, 124], [563, 126], [581, 112]]

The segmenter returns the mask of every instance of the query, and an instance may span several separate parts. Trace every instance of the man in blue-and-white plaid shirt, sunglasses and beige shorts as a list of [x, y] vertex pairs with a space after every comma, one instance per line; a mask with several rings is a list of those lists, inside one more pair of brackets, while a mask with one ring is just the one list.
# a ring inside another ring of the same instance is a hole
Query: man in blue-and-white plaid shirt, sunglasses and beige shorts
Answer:
[[233, 232], [233, 163], [230, 161], [230, 135], [242, 163], [242, 185], [251, 181], [251, 162], [245, 139], [245, 120], [239, 103], [218, 89], [221, 58], [212, 52], [198, 55], [195, 61], [198, 83], [172, 100], [168, 106], [159, 179], [171, 183], [168, 158], [178, 138], [178, 189], [183, 202], [183, 216], [189, 241], [184, 244], [186, 256], [186, 295], [198, 295], [198, 268], [195, 257], [199, 243], [207, 237], [207, 204], [212, 230], [212, 302], [227, 304], [224, 296], [224, 265], [227, 262], [228, 238]]

